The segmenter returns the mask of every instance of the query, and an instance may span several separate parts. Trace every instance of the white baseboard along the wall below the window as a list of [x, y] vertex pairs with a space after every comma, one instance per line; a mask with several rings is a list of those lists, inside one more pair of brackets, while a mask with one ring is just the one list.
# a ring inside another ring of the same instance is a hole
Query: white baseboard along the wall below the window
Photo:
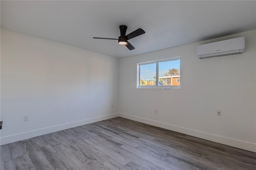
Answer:
[[189, 129], [189, 128], [178, 127], [178, 126], [175, 126], [175, 125], [170, 125], [170, 124], [167, 124], [167, 123], [153, 121], [153, 120], [145, 119], [145, 118], [142, 118], [142, 117], [127, 115], [127, 114], [124, 114], [124, 113], [119, 113], [119, 117], [123, 117], [123, 118], [130, 119], [130, 120], [133, 120], [133, 121], [138, 121], [138, 122], [141, 122], [141, 123], [146, 123], [148, 125], [153, 125], [153, 126], [160, 127], [160, 128], [165, 128], [165, 129], [172, 130], [172, 131], [175, 131], [175, 132], [180, 132], [180, 133], [187, 134], [187, 135], [190, 135], [190, 136], [195, 136], [195, 137], [198, 137], [198, 138], [210, 140], [210, 141], [217, 142], [217, 143], [220, 143], [220, 144], [233, 146], [235, 148], [240, 148], [240, 149], [248, 150], [248, 151], [251, 151], [251, 152], [256, 152], [256, 144], [255, 143], [249, 143], [249, 142], [244, 142], [244, 141], [236, 140], [236, 139], [232, 139], [232, 138], [226, 138], [226, 137], [223, 137], [223, 136], [218, 136], [218, 135], [214, 135], [214, 134], [200, 132], [200, 131], [192, 130], [192, 129]]

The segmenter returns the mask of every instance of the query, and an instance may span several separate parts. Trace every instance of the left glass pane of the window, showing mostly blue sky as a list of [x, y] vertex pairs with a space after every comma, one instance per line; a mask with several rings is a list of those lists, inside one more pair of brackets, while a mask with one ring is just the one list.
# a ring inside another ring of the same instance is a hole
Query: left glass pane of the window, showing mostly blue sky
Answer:
[[140, 85], [156, 85], [156, 63], [140, 65]]

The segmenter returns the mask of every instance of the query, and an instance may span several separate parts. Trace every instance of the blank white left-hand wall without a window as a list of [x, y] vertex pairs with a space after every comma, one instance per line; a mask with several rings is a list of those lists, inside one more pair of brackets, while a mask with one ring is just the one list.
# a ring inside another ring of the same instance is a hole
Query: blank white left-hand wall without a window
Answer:
[[116, 117], [118, 69], [117, 58], [1, 29], [1, 144]]

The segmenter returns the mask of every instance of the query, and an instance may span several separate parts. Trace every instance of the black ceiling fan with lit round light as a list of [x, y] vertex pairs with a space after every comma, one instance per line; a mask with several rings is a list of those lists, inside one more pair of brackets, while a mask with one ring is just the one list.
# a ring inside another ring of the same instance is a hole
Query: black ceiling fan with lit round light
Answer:
[[132, 44], [130, 44], [128, 42], [128, 40], [140, 36], [141, 34], [145, 34], [145, 31], [142, 30], [141, 28], [139, 28], [138, 30], [135, 30], [134, 32], [131, 32], [128, 35], [126, 34], [126, 30], [127, 30], [127, 26], [119, 26], [120, 29], [120, 37], [118, 37], [118, 39], [115, 38], [98, 38], [98, 37], [93, 37], [95, 39], [104, 39], [104, 40], [118, 40], [118, 43], [121, 45], [125, 45], [128, 49], [133, 50], [135, 49], [134, 46], [132, 46]]

